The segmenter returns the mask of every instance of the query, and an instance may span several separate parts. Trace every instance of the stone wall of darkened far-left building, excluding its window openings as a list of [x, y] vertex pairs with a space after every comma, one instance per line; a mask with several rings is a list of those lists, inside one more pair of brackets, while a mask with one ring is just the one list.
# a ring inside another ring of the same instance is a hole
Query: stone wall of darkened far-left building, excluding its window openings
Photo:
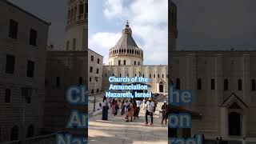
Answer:
[[[45, 97], [46, 45], [49, 25], [12, 4], [0, 1], [0, 141], [10, 140], [10, 130], [19, 128], [19, 138], [34, 125], [34, 134], [42, 128]], [[10, 19], [18, 22], [18, 38], [9, 38]], [[30, 28], [37, 30], [37, 46], [30, 46]], [[6, 74], [6, 54], [15, 56], [14, 74]], [[34, 62], [34, 77], [26, 77], [27, 61]], [[25, 105], [25, 128], [22, 131], [22, 87], [33, 89], [31, 103]], [[11, 90], [10, 103], [5, 90]]]

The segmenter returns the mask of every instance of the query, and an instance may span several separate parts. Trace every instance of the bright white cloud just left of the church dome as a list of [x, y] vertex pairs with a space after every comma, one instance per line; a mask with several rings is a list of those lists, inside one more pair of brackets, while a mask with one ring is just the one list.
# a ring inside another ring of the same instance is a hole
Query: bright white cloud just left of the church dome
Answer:
[[89, 48], [102, 54], [104, 56], [104, 62], [106, 63], [109, 49], [118, 42], [120, 37], [121, 33], [99, 32], [93, 34], [89, 38]]

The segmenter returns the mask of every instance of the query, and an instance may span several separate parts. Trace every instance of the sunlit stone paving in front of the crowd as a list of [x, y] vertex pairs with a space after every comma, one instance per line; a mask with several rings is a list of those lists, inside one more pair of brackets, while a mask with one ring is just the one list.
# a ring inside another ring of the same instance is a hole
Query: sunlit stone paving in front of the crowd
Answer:
[[[141, 110], [139, 118], [133, 122], [125, 122], [124, 116], [118, 115], [114, 117], [109, 110], [108, 121], [102, 121], [102, 113], [91, 116], [89, 118], [89, 142], [93, 144], [110, 143], [110, 144], [150, 144], [168, 143], [167, 126], [161, 126], [161, 118], [159, 118], [159, 107], [162, 103], [158, 103], [158, 109], [154, 115], [154, 125], [145, 124], [145, 110]], [[149, 118], [150, 122], [150, 118]]]

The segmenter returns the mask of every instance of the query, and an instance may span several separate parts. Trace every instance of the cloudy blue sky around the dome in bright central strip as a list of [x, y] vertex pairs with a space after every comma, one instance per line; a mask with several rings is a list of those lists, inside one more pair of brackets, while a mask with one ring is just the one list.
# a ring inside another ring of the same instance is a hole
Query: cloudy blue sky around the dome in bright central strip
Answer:
[[167, 64], [167, 0], [89, 0], [89, 48], [106, 63], [127, 20], [144, 64]]

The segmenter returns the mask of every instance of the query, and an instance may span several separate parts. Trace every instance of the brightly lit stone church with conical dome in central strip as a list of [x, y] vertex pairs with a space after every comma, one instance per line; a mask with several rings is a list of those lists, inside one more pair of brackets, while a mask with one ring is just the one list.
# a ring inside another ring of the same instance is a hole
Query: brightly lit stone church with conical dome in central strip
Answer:
[[122, 37], [110, 49], [108, 65], [103, 66], [102, 90], [108, 90], [110, 76], [149, 78], [149, 90], [152, 93], [168, 93], [168, 73], [166, 65], [143, 65], [143, 50], [132, 37], [132, 30], [127, 22], [122, 30]]

